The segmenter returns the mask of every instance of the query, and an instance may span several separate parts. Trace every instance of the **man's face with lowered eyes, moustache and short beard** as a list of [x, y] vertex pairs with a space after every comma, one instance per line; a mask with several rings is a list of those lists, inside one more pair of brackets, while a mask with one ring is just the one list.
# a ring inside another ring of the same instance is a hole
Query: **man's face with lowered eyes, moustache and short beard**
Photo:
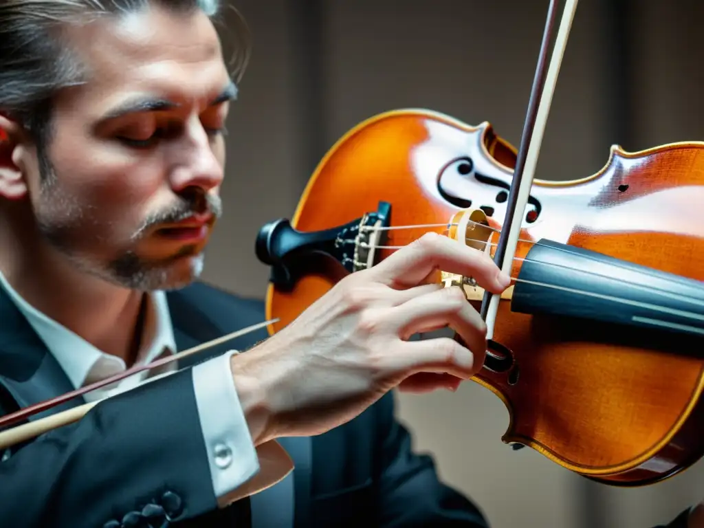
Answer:
[[48, 170], [35, 149], [20, 164], [40, 232], [124, 287], [187, 284], [220, 215], [234, 87], [218, 35], [202, 13], [151, 8], [68, 40], [89, 80], [55, 101]]

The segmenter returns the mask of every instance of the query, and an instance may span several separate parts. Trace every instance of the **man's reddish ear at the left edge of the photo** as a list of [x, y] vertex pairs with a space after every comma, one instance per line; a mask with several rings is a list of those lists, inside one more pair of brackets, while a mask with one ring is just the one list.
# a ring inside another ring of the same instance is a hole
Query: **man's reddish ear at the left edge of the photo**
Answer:
[[20, 169], [28, 153], [26, 141], [23, 128], [0, 113], [0, 196], [9, 200], [27, 196], [27, 182]]

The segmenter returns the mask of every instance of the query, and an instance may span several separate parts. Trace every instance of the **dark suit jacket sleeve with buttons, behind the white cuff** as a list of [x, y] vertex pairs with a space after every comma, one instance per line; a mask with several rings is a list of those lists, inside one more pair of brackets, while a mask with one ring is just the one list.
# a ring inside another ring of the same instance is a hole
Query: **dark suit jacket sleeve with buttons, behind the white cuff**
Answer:
[[130, 517], [218, 508], [192, 369], [97, 404], [0, 462], [0, 519], [23, 528], [118, 528]]

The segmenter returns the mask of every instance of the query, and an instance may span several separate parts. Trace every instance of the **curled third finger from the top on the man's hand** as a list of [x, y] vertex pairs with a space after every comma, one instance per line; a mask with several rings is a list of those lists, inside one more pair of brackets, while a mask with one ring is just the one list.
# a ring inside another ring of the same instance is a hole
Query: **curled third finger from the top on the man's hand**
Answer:
[[481, 363], [474, 360], [474, 354], [449, 337], [425, 339], [423, 341], [406, 341], [394, 351], [393, 358], [396, 372], [406, 376], [418, 372], [447, 373], [461, 379], [470, 379]]

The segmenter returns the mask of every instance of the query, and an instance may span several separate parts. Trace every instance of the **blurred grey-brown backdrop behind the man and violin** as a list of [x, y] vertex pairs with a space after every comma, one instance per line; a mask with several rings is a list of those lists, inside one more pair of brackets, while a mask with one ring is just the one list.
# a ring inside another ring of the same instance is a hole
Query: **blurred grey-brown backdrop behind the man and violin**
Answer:
[[[234, 0], [253, 56], [229, 122], [225, 217], [205, 279], [263, 296], [253, 241], [290, 218], [325, 151], [394, 108], [488, 120], [516, 146], [548, 1]], [[562, 2], [560, 2], [560, 12]], [[538, 175], [591, 175], [609, 146], [704, 139], [704, 3], [583, 0], [567, 45]], [[610, 489], [532, 450], [511, 451], [501, 401], [468, 382], [456, 394], [398, 396], [415, 445], [471, 496], [494, 528], [646, 528], [704, 498], [696, 465], [643, 489]]]

